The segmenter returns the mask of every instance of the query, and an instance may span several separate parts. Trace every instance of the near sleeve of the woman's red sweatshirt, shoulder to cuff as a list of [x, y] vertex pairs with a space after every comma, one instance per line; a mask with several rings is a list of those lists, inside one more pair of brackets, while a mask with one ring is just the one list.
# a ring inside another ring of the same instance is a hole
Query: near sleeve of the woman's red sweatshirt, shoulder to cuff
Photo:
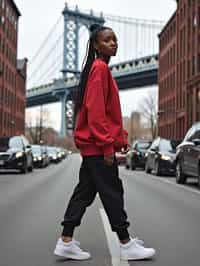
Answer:
[[86, 94], [88, 125], [95, 138], [96, 145], [101, 147], [104, 154], [114, 153], [113, 138], [105, 111], [105, 97], [108, 93], [108, 69], [99, 64], [91, 69]]

